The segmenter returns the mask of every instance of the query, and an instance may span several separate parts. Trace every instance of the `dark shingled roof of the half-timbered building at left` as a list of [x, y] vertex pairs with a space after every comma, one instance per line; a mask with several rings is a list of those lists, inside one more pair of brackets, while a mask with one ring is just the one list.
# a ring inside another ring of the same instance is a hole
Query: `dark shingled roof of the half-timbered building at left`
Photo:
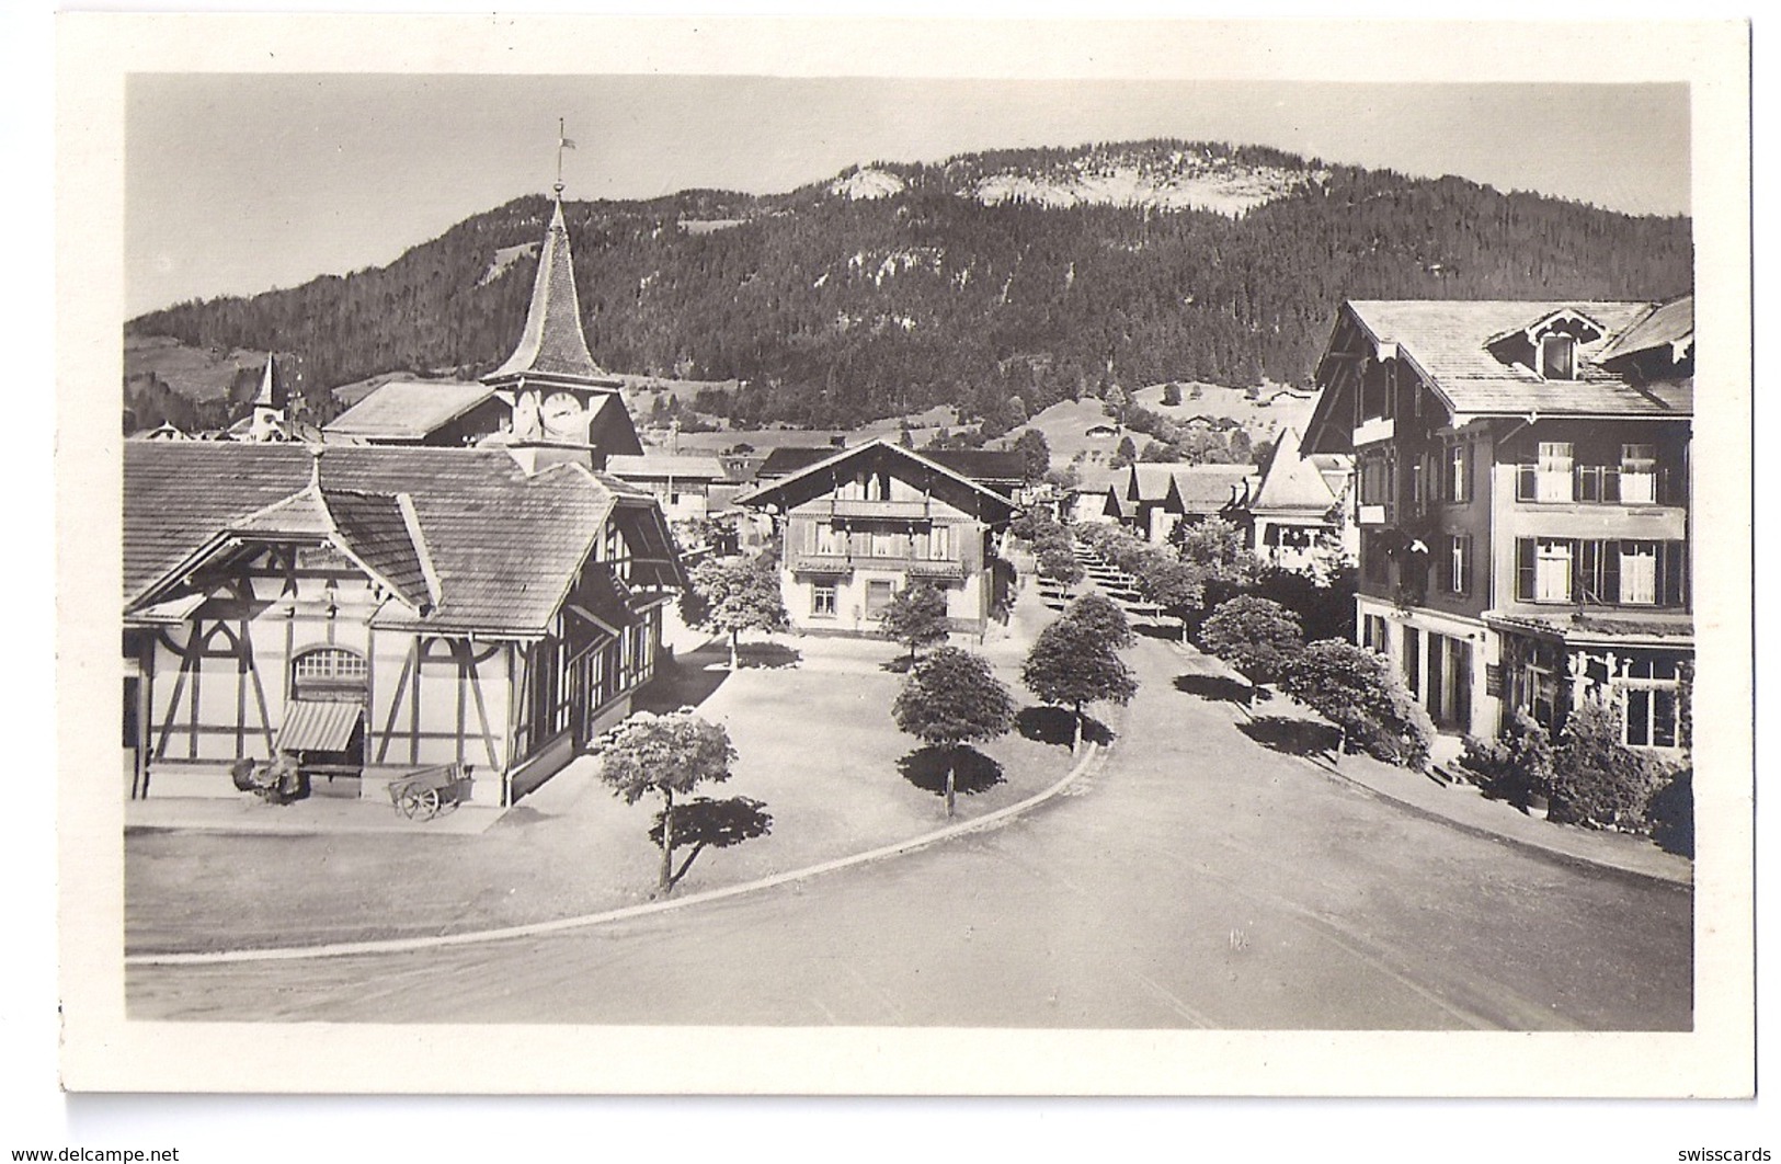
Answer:
[[[317, 536], [313, 500], [297, 500], [310, 472], [299, 445], [125, 441], [126, 605], [232, 530]], [[329, 447], [319, 475], [354, 557], [415, 598], [436, 589], [431, 610], [379, 610], [390, 628], [543, 634], [614, 504], [641, 502], [573, 465], [527, 477], [493, 449]]]

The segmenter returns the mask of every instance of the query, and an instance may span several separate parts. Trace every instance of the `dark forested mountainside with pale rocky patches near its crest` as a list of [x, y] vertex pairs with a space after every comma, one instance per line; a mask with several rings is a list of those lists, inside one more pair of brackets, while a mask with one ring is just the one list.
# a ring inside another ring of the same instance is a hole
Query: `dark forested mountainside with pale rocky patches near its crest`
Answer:
[[[292, 352], [319, 411], [326, 386], [378, 372], [477, 376], [520, 333], [547, 212], [518, 199], [388, 267], [128, 331]], [[1692, 271], [1688, 219], [1199, 142], [876, 164], [771, 198], [565, 214], [595, 358], [744, 381], [700, 397], [737, 425], [942, 402], [994, 415], [1010, 397], [1037, 413], [1110, 383], [1302, 384], [1343, 297], [1662, 297]]]

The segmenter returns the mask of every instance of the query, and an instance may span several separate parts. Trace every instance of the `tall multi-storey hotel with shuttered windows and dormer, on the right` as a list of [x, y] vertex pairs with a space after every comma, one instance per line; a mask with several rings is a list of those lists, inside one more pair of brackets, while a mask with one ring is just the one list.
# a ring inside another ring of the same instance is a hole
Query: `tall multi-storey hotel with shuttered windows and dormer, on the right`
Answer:
[[1361, 641], [1435, 723], [1601, 696], [1678, 746], [1694, 301], [1345, 303], [1307, 427], [1354, 452]]

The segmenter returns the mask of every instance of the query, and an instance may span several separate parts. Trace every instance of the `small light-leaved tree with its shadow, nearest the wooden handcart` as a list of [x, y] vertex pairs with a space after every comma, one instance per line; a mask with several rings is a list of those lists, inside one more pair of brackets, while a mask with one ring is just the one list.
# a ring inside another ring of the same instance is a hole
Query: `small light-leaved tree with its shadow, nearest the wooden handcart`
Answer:
[[[707, 723], [691, 712], [652, 715], [638, 712], [606, 733], [598, 746], [600, 780], [613, 796], [636, 804], [645, 796], [659, 796], [663, 808], [650, 826], [650, 840], [661, 851], [655, 892], [668, 893], [707, 847], [728, 847], [752, 837], [764, 837], [773, 819], [760, 812], [760, 801], [736, 797], [711, 801], [700, 797], [689, 804], [675, 804], [677, 796], [689, 794], [702, 783], [721, 783], [730, 778], [736, 748], [721, 724]], [[691, 845], [691, 853], [675, 870], [675, 849]]]

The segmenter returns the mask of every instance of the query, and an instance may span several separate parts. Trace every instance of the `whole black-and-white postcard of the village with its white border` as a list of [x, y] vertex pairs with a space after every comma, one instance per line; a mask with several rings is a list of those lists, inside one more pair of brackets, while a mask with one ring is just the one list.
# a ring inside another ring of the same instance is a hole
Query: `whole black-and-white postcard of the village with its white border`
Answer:
[[66, 1087], [1753, 1095], [1747, 27], [223, 20], [61, 21]]

